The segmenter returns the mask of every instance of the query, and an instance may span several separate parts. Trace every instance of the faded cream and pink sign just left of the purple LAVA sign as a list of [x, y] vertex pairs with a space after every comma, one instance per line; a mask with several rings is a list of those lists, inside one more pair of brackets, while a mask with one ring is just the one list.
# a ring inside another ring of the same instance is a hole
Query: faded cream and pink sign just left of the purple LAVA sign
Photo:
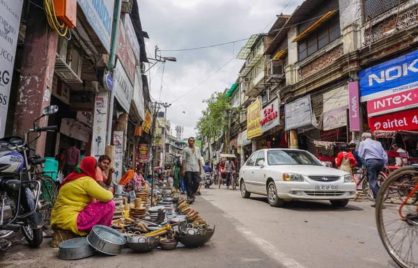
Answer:
[[324, 94], [323, 129], [347, 125], [348, 90], [341, 86]]

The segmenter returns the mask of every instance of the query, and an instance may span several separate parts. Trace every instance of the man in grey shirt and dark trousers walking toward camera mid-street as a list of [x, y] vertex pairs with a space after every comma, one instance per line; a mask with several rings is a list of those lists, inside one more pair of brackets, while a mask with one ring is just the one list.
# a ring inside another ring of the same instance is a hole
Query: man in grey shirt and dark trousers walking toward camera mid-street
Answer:
[[199, 188], [202, 166], [201, 152], [199, 148], [194, 147], [194, 138], [190, 137], [187, 142], [189, 143], [189, 147], [184, 148], [181, 154], [183, 159], [181, 173], [185, 178], [187, 203], [191, 204], [194, 202], [194, 194]]

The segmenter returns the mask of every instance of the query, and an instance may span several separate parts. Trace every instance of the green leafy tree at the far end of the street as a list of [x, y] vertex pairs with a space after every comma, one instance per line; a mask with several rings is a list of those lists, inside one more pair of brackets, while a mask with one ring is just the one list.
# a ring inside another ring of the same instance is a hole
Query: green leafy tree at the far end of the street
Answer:
[[195, 129], [199, 131], [201, 136], [208, 139], [215, 138], [222, 133], [222, 130], [229, 129], [229, 97], [224, 93], [215, 92], [207, 99], [203, 100], [208, 107], [202, 111], [203, 116], [199, 118]]

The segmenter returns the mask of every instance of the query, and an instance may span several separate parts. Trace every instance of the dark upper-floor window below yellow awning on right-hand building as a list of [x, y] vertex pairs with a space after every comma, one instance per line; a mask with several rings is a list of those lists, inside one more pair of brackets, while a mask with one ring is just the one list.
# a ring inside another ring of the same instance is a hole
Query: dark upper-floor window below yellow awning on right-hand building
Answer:
[[307, 38], [298, 42], [299, 61], [311, 56], [340, 36], [341, 31], [338, 18], [332, 19], [332, 21], [325, 26], [320, 26], [317, 31], [314, 31], [314, 33], [311, 33]]

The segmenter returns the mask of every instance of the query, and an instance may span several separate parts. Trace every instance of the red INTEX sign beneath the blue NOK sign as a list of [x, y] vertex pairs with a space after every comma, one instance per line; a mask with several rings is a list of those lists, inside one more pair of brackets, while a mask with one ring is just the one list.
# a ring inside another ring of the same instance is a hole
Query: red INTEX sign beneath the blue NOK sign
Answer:
[[367, 113], [369, 116], [378, 116], [415, 107], [418, 107], [418, 88], [369, 100], [367, 102]]

